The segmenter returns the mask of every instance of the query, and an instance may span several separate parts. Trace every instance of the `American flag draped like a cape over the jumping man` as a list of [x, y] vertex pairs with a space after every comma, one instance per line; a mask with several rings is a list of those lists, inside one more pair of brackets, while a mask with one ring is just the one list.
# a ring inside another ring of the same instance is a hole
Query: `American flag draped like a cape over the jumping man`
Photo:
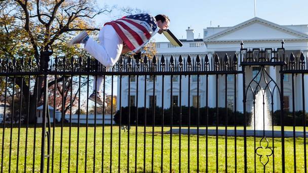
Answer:
[[155, 18], [149, 14], [124, 16], [105, 25], [111, 25], [133, 52], [141, 49], [159, 30]]

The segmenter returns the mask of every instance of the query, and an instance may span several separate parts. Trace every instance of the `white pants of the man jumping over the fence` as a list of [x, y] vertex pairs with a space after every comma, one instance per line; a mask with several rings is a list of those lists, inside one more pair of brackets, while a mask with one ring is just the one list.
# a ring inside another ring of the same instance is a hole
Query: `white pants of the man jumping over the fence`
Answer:
[[[123, 40], [111, 25], [105, 25], [98, 34], [98, 40], [91, 37], [85, 45], [85, 50], [106, 67], [113, 66], [120, 58], [123, 49]], [[93, 82], [93, 89], [102, 90], [103, 76], [97, 76], [97, 84]]]

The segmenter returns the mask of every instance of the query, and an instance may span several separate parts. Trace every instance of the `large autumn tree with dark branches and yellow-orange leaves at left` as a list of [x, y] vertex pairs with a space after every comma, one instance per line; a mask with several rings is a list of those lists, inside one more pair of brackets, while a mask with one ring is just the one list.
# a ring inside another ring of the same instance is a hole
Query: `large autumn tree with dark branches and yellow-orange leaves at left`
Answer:
[[[34, 59], [33, 65], [42, 70], [45, 60], [43, 51], [53, 49], [53, 56], [85, 56], [81, 49], [69, 48], [66, 42], [74, 32], [95, 31], [95, 16], [110, 13], [112, 8], [98, 8], [95, 1], [86, 0], [8, 0], [0, 2], [0, 59]], [[26, 79], [26, 77], [24, 78]], [[16, 84], [23, 83], [23, 95], [30, 95], [29, 121], [35, 119], [35, 98], [42, 98], [43, 77], [37, 77], [30, 92], [30, 83], [16, 77]], [[57, 82], [62, 82], [63, 76]], [[51, 80], [51, 87], [55, 80]], [[37, 92], [34, 92], [37, 91]]]

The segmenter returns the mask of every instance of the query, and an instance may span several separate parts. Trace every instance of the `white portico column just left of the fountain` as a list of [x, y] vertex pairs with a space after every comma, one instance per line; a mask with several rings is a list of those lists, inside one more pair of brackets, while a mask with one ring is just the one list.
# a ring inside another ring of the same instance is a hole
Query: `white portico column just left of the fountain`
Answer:
[[[241, 64], [241, 57], [240, 57], [240, 51], [237, 51], [236, 54], [238, 55], [238, 71], [242, 71], [242, 67], [240, 67]], [[237, 75], [237, 110], [239, 112], [243, 112], [244, 105], [243, 105], [243, 74]]]

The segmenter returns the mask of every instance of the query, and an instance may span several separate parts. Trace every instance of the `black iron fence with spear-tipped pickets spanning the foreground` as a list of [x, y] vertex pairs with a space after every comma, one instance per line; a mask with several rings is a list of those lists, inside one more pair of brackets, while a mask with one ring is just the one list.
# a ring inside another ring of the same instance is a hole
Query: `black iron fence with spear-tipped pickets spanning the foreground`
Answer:
[[1, 172], [306, 172], [308, 59], [284, 42], [110, 68], [51, 55], [0, 62]]

